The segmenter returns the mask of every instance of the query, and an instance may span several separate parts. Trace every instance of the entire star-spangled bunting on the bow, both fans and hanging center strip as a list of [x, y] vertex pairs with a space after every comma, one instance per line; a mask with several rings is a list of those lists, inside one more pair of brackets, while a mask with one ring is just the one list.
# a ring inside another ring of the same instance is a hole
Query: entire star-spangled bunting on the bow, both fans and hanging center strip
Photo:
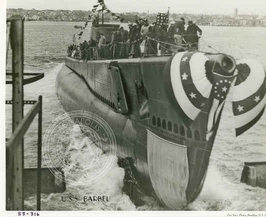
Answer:
[[[230, 86], [233, 90], [233, 112], [236, 135], [245, 132], [262, 116], [266, 103], [266, 72], [262, 64], [252, 59], [237, 62], [234, 72], [212, 71], [208, 57], [200, 52], [178, 52], [164, 68], [164, 83], [170, 100], [189, 126], [204, 108], [207, 100], [209, 114], [206, 139], [214, 134], [221, 117]], [[170, 78], [168, 78], [170, 77]], [[207, 105], [206, 105], [207, 106]], [[207, 108], [205, 106], [205, 109]]]

